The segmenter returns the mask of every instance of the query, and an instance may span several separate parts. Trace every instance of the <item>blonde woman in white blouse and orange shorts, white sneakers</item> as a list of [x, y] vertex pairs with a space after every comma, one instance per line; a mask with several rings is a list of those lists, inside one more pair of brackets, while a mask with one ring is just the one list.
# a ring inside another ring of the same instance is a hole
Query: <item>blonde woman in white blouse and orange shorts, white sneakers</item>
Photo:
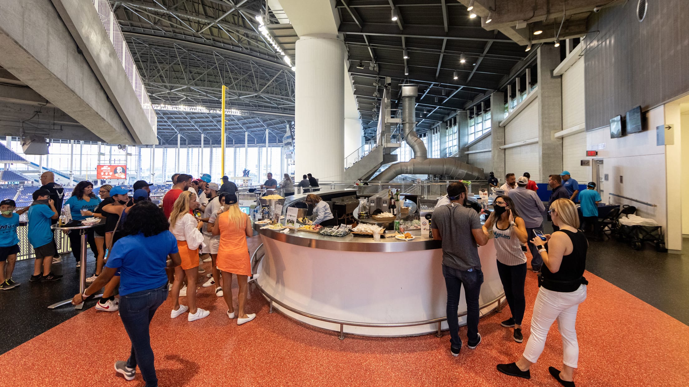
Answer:
[[[187, 321], [202, 319], [210, 314], [202, 308], [196, 308], [196, 280], [198, 277], [198, 247], [203, 243], [203, 234], [200, 229], [202, 221], [197, 221], [190, 212], [198, 207], [197, 196], [193, 192], [185, 191], [174, 202], [170, 213], [170, 231], [177, 239], [177, 248], [182, 259], [182, 264], [175, 267], [174, 283], [172, 284], [172, 312], [170, 317], [175, 318], [189, 311]], [[187, 301], [189, 306], [179, 303], [179, 289], [184, 277], [187, 277]]]

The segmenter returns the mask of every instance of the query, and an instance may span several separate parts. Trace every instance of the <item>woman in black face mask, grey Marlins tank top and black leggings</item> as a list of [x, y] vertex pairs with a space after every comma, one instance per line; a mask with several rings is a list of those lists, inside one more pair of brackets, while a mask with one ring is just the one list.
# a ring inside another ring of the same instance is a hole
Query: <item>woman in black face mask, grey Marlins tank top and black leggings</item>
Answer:
[[528, 233], [524, 219], [520, 218], [515, 204], [509, 196], [501, 195], [493, 202], [493, 212], [483, 225], [483, 232], [489, 236], [493, 229], [495, 238], [495, 258], [497, 258], [497, 273], [505, 291], [507, 304], [510, 306], [512, 317], [500, 324], [505, 328], [514, 328], [513, 339], [517, 343], [524, 340], [522, 335], [522, 319], [526, 309], [524, 297], [524, 282], [526, 281], [526, 254], [522, 244], [526, 243]]

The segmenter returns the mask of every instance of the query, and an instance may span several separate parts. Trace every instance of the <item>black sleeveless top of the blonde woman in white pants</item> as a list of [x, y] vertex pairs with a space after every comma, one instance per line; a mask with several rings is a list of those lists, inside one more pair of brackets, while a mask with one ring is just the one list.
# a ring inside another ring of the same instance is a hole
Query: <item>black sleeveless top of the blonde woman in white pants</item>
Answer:
[[[545, 264], [542, 266], [539, 286], [543, 286], [550, 291], [569, 293], [579, 289], [581, 284], [588, 284], [588, 281], [584, 278], [588, 241], [582, 231], [577, 231], [576, 233], [567, 230], [560, 231], [566, 233], [572, 241], [572, 252], [562, 257], [562, 263], [557, 273], [551, 273]], [[546, 249], [548, 249], [547, 244]]]

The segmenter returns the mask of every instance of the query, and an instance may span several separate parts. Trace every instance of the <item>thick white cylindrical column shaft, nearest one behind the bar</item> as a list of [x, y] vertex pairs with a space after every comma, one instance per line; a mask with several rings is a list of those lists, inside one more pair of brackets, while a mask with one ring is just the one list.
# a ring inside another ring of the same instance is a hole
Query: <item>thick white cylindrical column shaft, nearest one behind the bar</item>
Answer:
[[[324, 35], [296, 43], [296, 176], [340, 180], [345, 171], [345, 44]], [[318, 160], [318, 163], [314, 163]]]

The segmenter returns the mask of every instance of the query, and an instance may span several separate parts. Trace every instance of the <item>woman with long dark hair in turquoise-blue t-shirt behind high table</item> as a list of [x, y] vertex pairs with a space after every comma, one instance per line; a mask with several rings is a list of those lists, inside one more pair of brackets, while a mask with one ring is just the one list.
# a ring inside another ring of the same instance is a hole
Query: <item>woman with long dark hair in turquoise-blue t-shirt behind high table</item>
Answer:
[[[93, 193], [93, 183], [90, 181], [80, 181], [74, 191], [72, 197], [65, 202], [70, 205], [70, 213], [72, 213], [72, 220], [84, 220], [93, 216], [93, 211], [96, 211], [98, 205], [101, 204], [95, 193]], [[70, 245], [72, 246], [72, 255], [76, 260], [76, 267], [79, 267], [79, 256], [81, 255], [81, 235], [79, 231], [70, 231]], [[93, 229], [86, 229], [86, 240], [93, 251], [94, 257], [98, 256], [98, 247], [96, 247], [96, 239], [94, 238]]]

